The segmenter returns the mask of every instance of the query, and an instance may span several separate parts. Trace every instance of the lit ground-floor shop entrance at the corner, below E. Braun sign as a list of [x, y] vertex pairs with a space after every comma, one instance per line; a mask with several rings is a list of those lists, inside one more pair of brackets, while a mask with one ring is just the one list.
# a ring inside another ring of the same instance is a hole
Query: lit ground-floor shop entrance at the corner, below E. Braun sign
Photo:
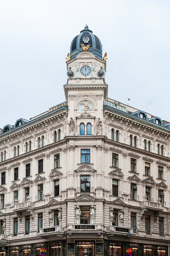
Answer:
[[92, 241], [76, 242], [76, 256], [95, 256], [95, 245]]

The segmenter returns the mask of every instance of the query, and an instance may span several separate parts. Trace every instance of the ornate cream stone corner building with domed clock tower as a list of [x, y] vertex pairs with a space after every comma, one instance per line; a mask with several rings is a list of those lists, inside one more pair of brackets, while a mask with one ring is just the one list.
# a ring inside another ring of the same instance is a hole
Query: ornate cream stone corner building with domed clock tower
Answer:
[[105, 58], [86, 26], [66, 101], [1, 129], [2, 256], [136, 256], [138, 238], [140, 256], [170, 255], [170, 123], [108, 98]]

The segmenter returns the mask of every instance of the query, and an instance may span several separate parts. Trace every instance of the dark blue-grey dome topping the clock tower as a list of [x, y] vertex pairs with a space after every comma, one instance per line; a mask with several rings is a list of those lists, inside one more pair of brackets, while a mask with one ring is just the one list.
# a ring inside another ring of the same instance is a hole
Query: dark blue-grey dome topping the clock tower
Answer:
[[83, 51], [81, 44], [84, 46], [90, 45], [88, 47], [88, 51], [93, 53], [94, 56], [98, 57], [99, 59], [102, 59], [102, 44], [100, 39], [93, 35], [93, 32], [88, 29], [87, 25], [82, 31], [80, 31], [78, 36], [73, 38], [70, 47], [70, 59], [73, 59]]

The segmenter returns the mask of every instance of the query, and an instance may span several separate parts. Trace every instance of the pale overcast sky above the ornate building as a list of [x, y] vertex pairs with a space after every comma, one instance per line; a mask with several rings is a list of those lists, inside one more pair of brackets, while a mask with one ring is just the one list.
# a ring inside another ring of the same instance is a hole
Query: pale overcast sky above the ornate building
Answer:
[[170, 1], [0, 1], [0, 127], [65, 101], [66, 59], [85, 24], [107, 51], [108, 97], [170, 122]]

